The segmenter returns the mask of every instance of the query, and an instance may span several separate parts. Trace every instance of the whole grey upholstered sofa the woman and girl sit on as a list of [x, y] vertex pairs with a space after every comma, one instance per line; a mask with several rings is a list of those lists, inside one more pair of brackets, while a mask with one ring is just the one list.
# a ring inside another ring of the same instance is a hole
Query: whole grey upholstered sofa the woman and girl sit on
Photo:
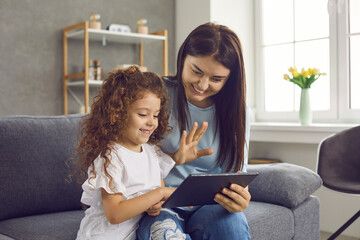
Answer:
[[[0, 118], [0, 239], [75, 239], [82, 190], [69, 182], [83, 115]], [[322, 181], [300, 166], [250, 165], [252, 239], [319, 239]]]

